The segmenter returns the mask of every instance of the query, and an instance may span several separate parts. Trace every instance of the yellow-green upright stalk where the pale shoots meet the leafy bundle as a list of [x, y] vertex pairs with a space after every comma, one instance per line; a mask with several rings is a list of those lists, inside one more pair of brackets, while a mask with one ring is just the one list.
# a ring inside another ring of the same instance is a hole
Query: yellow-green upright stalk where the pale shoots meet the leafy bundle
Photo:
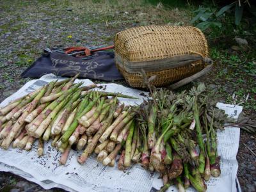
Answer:
[[131, 165], [131, 150], [132, 150], [132, 135], [135, 129], [135, 124], [132, 122], [129, 129], [129, 134], [125, 143], [125, 156], [124, 156], [124, 166], [128, 167]]

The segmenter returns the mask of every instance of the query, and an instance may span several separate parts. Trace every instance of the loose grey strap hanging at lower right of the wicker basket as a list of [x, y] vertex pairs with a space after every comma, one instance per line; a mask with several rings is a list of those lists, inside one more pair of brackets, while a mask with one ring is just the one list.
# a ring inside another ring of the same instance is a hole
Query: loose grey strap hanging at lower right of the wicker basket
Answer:
[[207, 65], [205, 68], [200, 70], [200, 72], [197, 72], [196, 74], [193, 74], [192, 76], [186, 77], [185, 79], [182, 79], [178, 81], [177, 83], [173, 83], [170, 85], [170, 88], [173, 90], [179, 88], [180, 86], [183, 86], [184, 84], [188, 84], [191, 81], [194, 81], [195, 79], [204, 76], [204, 74], [207, 74], [212, 69], [213, 62], [210, 58], [204, 58], [205, 63], [210, 63], [210, 65]]

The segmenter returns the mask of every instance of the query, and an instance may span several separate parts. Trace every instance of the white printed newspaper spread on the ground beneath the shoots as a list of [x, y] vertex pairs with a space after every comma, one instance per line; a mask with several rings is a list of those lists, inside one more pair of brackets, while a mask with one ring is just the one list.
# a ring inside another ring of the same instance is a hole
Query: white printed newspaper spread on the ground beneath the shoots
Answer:
[[[0, 106], [8, 104], [29, 92], [56, 79], [63, 79], [52, 74], [45, 75], [37, 80], [26, 83], [20, 90], [6, 100]], [[88, 79], [76, 80], [84, 85], [92, 84]], [[103, 91], [119, 92], [140, 99], [121, 99], [125, 104], [140, 104], [146, 99], [147, 92], [127, 88], [120, 84], [101, 84]], [[237, 118], [242, 111], [241, 106], [232, 106], [218, 103], [218, 108], [224, 109], [229, 116]], [[206, 183], [207, 191], [241, 191], [237, 181], [237, 150], [239, 146], [240, 130], [237, 127], [226, 127], [225, 131], [218, 131], [218, 154], [221, 156], [221, 176], [211, 177]], [[72, 150], [65, 166], [59, 164], [60, 152], [51, 147], [51, 141], [45, 143], [44, 156], [38, 157], [37, 145], [30, 152], [18, 148], [0, 149], [0, 171], [12, 172], [27, 180], [36, 182], [44, 189], [62, 188], [67, 191], [157, 191], [163, 186], [158, 173], [150, 173], [140, 164], [134, 164], [125, 172], [116, 167], [103, 166], [98, 163], [95, 156], [91, 156], [84, 165], [77, 163], [77, 157], [81, 152]], [[177, 191], [172, 186], [168, 191]], [[195, 191], [193, 188], [187, 191]]]

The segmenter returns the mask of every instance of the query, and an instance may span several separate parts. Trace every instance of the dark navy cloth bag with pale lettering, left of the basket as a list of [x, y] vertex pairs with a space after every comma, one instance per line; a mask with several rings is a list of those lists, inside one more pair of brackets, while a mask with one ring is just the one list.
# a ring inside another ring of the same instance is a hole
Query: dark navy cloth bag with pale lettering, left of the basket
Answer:
[[48, 52], [42, 54], [21, 76], [39, 78], [50, 73], [64, 77], [72, 77], [80, 73], [81, 78], [104, 81], [124, 79], [116, 68], [113, 51], [94, 52], [85, 58], [76, 58], [60, 52]]

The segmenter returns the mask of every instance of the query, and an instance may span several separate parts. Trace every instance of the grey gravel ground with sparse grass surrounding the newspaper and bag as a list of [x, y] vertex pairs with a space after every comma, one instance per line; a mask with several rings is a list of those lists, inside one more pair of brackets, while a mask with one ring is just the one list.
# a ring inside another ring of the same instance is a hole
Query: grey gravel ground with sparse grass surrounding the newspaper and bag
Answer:
[[[30, 79], [20, 74], [45, 47], [112, 45], [117, 31], [145, 24], [188, 24], [184, 10], [83, 1], [0, 2], [0, 102]], [[214, 71], [200, 81], [211, 82]], [[213, 83], [212, 87], [216, 88]], [[254, 152], [254, 154], [253, 154]], [[243, 191], [256, 191], [255, 136], [241, 131], [237, 177]], [[49, 191], [56, 191], [52, 189]], [[12, 173], [0, 173], [0, 191], [45, 191]], [[61, 190], [60, 190], [61, 191]]]

